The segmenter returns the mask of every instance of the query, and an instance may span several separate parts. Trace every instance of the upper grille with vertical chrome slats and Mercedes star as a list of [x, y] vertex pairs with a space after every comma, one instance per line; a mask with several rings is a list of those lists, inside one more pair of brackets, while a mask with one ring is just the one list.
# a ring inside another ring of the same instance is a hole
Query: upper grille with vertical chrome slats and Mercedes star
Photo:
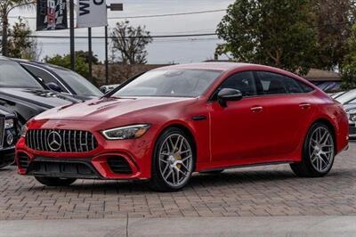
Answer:
[[28, 130], [26, 144], [32, 150], [52, 152], [87, 152], [98, 146], [92, 133], [64, 129]]

